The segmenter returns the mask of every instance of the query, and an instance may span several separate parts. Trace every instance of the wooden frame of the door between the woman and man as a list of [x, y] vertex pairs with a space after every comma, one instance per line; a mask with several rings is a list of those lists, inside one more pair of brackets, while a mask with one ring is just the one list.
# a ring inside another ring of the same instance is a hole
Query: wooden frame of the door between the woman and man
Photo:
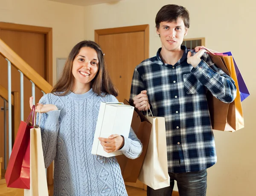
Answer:
[[149, 58], [149, 25], [137, 25], [137, 26], [125, 26], [110, 29], [97, 29], [94, 30], [94, 41], [99, 43], [100, 35], [112, 35], [120, 33], [133, 33], [133, 32], [144, 32], [145, 33], [145, 53], [144, 59]]

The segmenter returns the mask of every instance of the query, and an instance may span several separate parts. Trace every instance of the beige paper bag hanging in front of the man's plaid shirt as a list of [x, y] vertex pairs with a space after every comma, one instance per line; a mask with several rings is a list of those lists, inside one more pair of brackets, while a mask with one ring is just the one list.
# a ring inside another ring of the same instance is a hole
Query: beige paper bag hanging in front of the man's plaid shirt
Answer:
[[152, 128], [148, 150], [138, 180], [156, 190], [170, 186], [167, 164], [165, 118], [153, 117], [153, 115], [147, 118], [152, 124]]

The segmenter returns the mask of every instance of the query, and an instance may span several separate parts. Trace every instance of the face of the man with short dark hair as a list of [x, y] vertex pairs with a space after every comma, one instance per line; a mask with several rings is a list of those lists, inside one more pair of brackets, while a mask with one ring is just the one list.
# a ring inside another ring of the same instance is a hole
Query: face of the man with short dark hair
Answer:
[[177, 18], [177, 22], [161, 22], [157, 34], [160, 35], [162, 49], [168, 51], [179, 51], [183, 38], [187, 35], [188, 28], [185, 27], [183, 19]]

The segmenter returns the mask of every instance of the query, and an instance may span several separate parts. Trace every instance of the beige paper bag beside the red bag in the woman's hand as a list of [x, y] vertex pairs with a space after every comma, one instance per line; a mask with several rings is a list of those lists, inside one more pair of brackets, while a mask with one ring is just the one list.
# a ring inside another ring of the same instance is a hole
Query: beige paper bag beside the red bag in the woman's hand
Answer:
[[39, 127], [34, 126], [30, 129], [30, 189], [24, 189], [24, 196], [49, 196], [44, 167], [40, 117], [41, 113], [39, 114]]

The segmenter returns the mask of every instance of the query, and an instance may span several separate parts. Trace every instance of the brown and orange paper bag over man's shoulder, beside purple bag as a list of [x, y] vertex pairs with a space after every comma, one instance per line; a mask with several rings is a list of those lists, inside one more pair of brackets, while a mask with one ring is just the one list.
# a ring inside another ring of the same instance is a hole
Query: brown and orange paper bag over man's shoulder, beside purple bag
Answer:
[[210, 92], [207, 93], [212, 129], [234, 132], [244, 127], [244, 118], [233, 57], [215, 54], [209, 54], [209, 56], [218, 68], [233, 78], [237, 88], [236, 99], [230, 104], [218, 100]]

